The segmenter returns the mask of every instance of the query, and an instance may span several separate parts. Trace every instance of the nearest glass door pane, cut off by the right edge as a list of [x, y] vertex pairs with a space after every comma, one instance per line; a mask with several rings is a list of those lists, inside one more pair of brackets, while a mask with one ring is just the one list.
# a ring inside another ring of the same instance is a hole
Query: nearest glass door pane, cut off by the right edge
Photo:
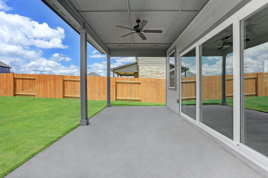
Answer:
[[268, 7], [241, 20], [244, 97], [241, 143], [268, 156]]

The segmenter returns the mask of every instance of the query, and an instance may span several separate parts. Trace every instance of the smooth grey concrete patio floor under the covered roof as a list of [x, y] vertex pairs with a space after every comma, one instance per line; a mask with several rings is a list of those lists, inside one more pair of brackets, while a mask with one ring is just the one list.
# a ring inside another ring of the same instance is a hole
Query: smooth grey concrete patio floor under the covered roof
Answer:
[[268, 177], [167, 107], [110, 107], [9, 177]]

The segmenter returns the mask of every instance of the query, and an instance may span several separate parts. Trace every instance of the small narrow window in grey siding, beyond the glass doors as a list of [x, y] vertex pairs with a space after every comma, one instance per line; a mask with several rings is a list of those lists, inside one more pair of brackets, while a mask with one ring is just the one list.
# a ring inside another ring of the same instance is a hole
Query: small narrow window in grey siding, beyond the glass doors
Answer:
[[169, 90], [176, 90], [175, 50], [169, 54]]

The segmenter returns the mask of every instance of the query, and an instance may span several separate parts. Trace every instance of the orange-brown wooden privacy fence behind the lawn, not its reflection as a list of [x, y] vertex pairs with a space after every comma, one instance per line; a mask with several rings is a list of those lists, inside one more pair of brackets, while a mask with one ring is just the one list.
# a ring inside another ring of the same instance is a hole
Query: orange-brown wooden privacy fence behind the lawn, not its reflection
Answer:
[[[107, 77], [88, 76], [88, 99], [107, 100]], [[166, 80], [111, 77], [111, 101], [166, 102]], [[80, 98], [80, 76], [0, 74], [0, 96]]]

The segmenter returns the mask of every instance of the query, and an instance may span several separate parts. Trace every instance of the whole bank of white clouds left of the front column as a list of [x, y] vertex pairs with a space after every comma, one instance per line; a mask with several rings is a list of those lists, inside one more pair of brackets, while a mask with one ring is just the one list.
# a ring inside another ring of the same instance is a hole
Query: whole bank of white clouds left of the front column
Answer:
[[[0, 0], [0, 8], [3, 1]], [[49, 59], [43, 57], [42, 48], [67, 48], [62, 44], [64, 29], [50, 28], [17, 14], [0, 12], [0, 61], [11, 66], [12, 72], [26, 74], [80, 75], [79, 66], [63, 66], [61, 61], [71, 61], [63, 54], [55, 53]]]

